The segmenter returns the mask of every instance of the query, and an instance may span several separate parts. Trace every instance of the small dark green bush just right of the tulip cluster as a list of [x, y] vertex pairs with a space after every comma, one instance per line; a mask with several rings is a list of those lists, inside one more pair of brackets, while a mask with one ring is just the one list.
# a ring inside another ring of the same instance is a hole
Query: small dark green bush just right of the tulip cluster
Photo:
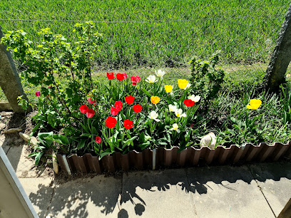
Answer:
[[192, 90], [205, 101], [216, 98], [223, 83], [225, 72], [215, 68], [218, 61], [218, 53], [213, 54], [209, 61], [201, 61], [198, 58], [190, 61]]

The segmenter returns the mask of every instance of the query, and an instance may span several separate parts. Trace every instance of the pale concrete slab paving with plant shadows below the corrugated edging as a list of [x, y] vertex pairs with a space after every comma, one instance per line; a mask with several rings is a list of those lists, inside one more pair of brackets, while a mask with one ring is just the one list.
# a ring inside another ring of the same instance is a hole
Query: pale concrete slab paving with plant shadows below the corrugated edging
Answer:
[[291, 197], [290, 161], [62, 182], [38, 172], [25, 146], [2, 147], [39, 217], [275, 217]]

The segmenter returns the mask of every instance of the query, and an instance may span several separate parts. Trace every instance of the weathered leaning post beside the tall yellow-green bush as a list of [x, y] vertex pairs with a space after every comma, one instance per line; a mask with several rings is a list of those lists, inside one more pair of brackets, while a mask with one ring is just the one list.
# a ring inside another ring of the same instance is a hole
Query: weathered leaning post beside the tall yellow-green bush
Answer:
[[[0, 28], [0, 40], [3, 33]], [[25, 110], [18, 104], [17, 98], [21, 95], [26, 98], [24, 89], [22, 88], [19, 75], [11, 58], [11, 54], [7, 51], [6, 46], [0, 44], [0, 86], [9, 101], [12, 110], [15, 113], [25, 113]], [[31, 108], [27, 112], [30, 112]]]

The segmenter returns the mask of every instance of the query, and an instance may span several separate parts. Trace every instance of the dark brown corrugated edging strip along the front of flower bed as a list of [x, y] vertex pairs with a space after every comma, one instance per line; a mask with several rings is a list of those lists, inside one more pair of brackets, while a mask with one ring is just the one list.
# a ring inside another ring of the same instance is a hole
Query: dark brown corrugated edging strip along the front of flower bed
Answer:
[[200, 149], [187, 147], [178, 152], [179, 147], [165, 149], [159, 147], [154, 150], [146, 149], [143, 152], [135, 150], [126, 155], [114, 153], [106, 155], [101, 160], [98, 156], [85, 154], [78, 155], [57, 155], [58, 163], [64, 172], [115, 172], [117, 170], [128, 171], [131, 169], [143, 170], [153, 169], [160, 166], [196, 166], [199, 162], [206, 162], [223, 165], [225, 162], [235, 163], [238, 161], [277, 161], [282, 157], [291, 158], [291, 142], [282, 144], [275, 142], [273, 145], [260, 143], [260, 145], [246, 144], [242, 147], [231, 145], [230, 147], [218, 146], [215, 149], [202, 147]]

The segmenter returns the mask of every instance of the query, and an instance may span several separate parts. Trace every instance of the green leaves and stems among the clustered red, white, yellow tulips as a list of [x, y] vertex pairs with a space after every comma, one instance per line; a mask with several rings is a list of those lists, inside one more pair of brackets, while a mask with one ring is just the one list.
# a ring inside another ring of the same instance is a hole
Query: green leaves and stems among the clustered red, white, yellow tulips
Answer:
[[[150, 84], [146, 83], [143, 78], [137, 85], [132, 85], [128, 80], [112, 81], [108, 84], [100, 83], [98, 89], [91, 92], [93, 96], [102, 96], [100, 100], [103, 107], [99, 108], [99, 110], [103, 111], [105, 118], [111, 115], [108, 112], [116, 100], [123, 102], [123, 108], [116, 116], [116, 127], [109, 129], [106, 125], [102, 124], [101, 133], [104, 140], [101, 142], [101, 145], [93, 142], [94, 138], [91, 137], [92, 145], [94, 146], [93, 150], [101, 154], [99, 158], [106, 154], [112, 154], [113, 152], [123, 152], [125, 154], [131, 150], [141, 151], [148, 147], [165, 146], [170, 148], [178, 145], [185, 148], [193, 144], [193, 142], [190, 142], [192, 135], [190, 122], [195, 117], [198, 106], [193, 108], [185, 107], [183, 100], [189, 92], [188, 89], [180, 90], [176, 86], [173, 89], [173, 95], [165, 93], [165, 83], [163, 81], [164, 78], [158, 78], [156, 83]], [[134, 104], [142, 105], [143, 109], [141, 113], [136, 114], [133, 112], [132, 105], [124, 103], [124, 99], [128, 95], [135, 97]], [[151, 96], [160, 96], [160, 102], [157, 105], [150, 103]], [[183, 112], [187, 113], [187, 117], [178, 118], [174, 112], [169, 111], [169, 104], [176, 105], [181, 110], [183, 109]], [[150, 112], [152, 111], [157, 112], [158, 120], [163, 121], [151, 119]], [[126, 130], [123, 127], [123, 120], [133, 120], [134, 128]], [[86, 121], [83, 123], [83, 129], [85, 129], [85, 126], [88, 125], [86, 125]], [[178, 123], [179, 133], [171, 130], [174, 123]]]

